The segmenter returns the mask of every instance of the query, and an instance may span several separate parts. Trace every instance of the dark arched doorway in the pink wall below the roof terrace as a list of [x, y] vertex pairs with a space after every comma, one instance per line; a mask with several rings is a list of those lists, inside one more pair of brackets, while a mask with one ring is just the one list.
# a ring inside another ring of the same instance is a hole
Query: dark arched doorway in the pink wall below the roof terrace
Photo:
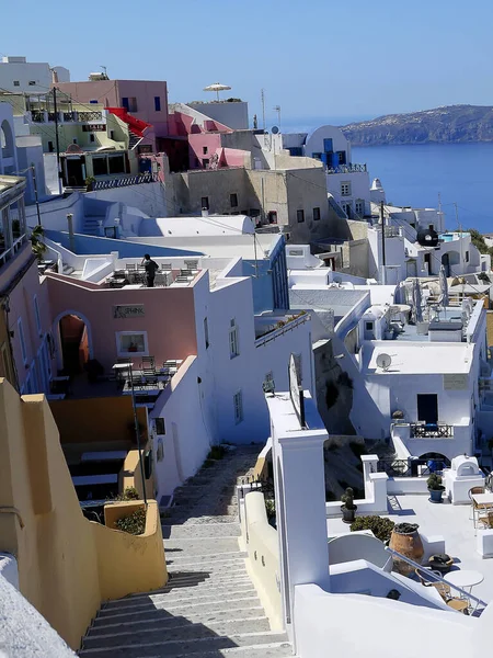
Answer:
[[91, 328], [77, 310], [67, 310], [55, 320], [58, 337], [58, 368], [67, 375], [78, 375], [92, 359]]

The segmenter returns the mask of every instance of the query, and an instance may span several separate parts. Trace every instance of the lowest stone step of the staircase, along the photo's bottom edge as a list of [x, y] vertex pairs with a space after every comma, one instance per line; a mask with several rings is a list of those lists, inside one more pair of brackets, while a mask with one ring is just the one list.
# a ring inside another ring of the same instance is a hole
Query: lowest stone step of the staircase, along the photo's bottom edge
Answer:
[[[79, 656], [88, 658], [179, 658], [180, 656], [188, 656], [198, 654], [198, 656], [207, 655], [220, 656], [218, 651], [221, 649], [243, 648], [246, 654], [234, 654], [233, 656], [253, 656], [253, 648], [256, 646], [262, 650], [265, 646], [287, 643], [285, 633], [244, 633], [232, 636], [211, 636], [200, 638], [185, 638], [176, 640], [152, 640], [144, 639], [140, 644], [121, 643], [111, 647], [93, 647], [92, 649], [83, 649], [79, 651]], [[228, 655], [228, 654], [225, 654]], [[275, 654], [274, 654], [275, 655]], [[288, 654], [289, 655], [289, 654]], [[260, 656], [268, 656], [268, 654], [260, 654]]]

